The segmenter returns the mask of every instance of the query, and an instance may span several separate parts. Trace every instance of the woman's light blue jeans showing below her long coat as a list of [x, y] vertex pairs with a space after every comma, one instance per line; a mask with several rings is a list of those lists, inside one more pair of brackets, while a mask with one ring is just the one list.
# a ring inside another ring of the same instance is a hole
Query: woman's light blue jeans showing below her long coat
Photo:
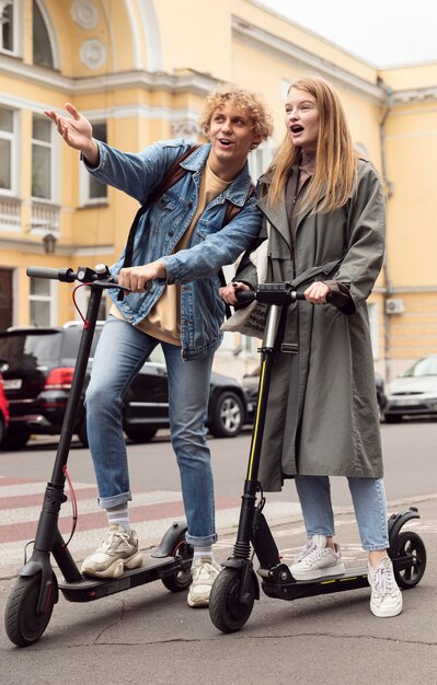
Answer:
[[[363, 548], [387, 549], [386, 490], [382, 478], [347, 478]], [[307, 535], [334, 535], [334, 514], [329, 476], [296, 476]]]

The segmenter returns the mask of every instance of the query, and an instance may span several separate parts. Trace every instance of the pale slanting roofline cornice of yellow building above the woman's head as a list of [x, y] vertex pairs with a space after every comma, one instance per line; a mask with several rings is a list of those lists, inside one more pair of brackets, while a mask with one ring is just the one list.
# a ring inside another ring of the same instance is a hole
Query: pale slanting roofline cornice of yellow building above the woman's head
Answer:
[[377, 104], [386, 102], [386, 92], [379, 85], [370, 83], [369, 81], [342, 69], [334, 62], [318, 57], [313, 53], [309, 53], [303, 48], [297, 47], [296, 45], [292, 45], [292, 43], [275, 36], [263, 28], [255, 26], [254, 24], [250, 24], [245, 20], [233, 16], [232, 32], [237, 39], [246, 43], [258, 50], [268, 53], [275, 58], [279, 58], [288, 62], [294, 61], [301, 65], [306, 71], [317, 71], [331, 80], [335, 79], [338, 83], [359, 91], [361, 95], [366, 95]]

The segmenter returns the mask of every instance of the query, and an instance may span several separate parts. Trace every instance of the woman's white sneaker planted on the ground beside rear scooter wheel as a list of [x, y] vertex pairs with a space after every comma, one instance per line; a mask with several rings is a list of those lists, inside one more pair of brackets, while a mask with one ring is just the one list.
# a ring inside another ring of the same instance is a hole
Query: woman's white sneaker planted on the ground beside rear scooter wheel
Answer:
[[382, 557], [377, 568], [368, 565], [367, 578], [371, 588], [370, 611], [378, 618], [398, 616], [402, 612], [402, 593], [389, 557]]

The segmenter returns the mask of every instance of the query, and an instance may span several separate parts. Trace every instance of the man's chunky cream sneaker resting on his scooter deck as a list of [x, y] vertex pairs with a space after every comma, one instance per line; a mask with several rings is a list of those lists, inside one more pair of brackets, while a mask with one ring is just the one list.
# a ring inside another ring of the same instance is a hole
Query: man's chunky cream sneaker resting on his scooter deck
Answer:
[[87, 557], [80, 570], [94, 578], [119, 578], [125, 568], [138, 568], [141, 564], [136, 532], [128, 533], [123, 525], [110, 525], [105, 539]]

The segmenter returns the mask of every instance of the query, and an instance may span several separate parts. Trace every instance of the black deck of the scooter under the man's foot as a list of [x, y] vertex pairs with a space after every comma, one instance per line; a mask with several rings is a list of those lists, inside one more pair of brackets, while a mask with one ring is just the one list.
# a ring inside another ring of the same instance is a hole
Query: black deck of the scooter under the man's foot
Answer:
[[[189, 568], [191, 562], [191, 559], [186, 561], [186, 568]], [[136, 569], [126, 569], [120, 578], [83, 577], [83, 580], [79, 582], [60, 581], [58, 587], [69, 602], [92, 602], [129, 588], [174, 576], [183, 570], [185, 568], [179, 557], [156, 558], [143, 553], [141, 566]]]

